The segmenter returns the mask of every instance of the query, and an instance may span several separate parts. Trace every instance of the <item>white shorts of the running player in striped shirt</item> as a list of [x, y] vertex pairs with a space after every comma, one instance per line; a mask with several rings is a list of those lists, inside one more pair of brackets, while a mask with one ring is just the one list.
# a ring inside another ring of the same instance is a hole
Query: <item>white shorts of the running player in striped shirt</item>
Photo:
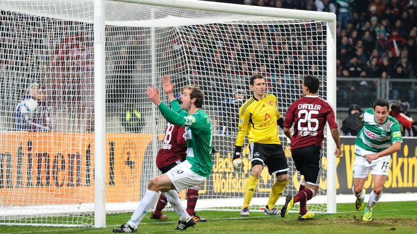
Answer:
[[369, 163], [366, 158], [361, 156], [355, 156], [353, 162], [353, 177], [354, 178], [366, 178], [371, 172], [371, 175], [385, 175], [388, 176], [388, 169], [390, 168], [391, 156], [383, 156], [378, 159], [372, 160]]

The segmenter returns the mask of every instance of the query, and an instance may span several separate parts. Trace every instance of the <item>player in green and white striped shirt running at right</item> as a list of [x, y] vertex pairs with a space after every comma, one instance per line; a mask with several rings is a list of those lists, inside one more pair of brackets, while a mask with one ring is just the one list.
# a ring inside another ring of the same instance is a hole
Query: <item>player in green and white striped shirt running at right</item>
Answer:
[[364, 210], [364, 221], [372, 221], [372, 209], [382, 196], [391, 154], [401, 149], [399, 123], [388, 115], [389, 109], [390, 104], [386, 99], [376, 99], [373, 109], [366, 109], [362, 114], [364, 125], [355, 141], [352, 192], [356, 196], [357, 211], [364, 207], [366, 191], [363, 186], [369, 172], [373, 177], [373, 191]]

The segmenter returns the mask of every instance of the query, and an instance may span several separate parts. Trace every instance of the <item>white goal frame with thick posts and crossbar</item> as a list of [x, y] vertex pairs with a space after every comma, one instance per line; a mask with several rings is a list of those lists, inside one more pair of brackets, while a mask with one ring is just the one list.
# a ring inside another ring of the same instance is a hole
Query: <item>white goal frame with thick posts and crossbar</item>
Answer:
[[[220, 2], [208, 2], [199, 0], [115, 0], [131, 3], [140, 3], [156, 6], [166, 6], [175, 8], [187, 8], [204, 11], [217, 11], [225, 13], [235, 13], [242, 15], [280, 17], [303, 20], [325, 20], [327, 27], [327, 96], [332, 106], [336, 106], [336, 15], [327, 12], [290, 10], [271, 7], [248, 6]], [[105, 31], [104, 0], [94, 0], [94, 110], [95, 110], [95, 178], [100, 178], [105, 173], [105, 53], [104, 53], [104, 34]], [[152, 36], [151, 36], [152, 37]], [[151, 39], [152, 40], [152, 39]], [[152, 68], [152, 78], [155, 80], [155, 69]], [[98, 95], [98, 96], [97, 96]], [[100, 114], [99, 114], [100, 113]], [[327, 127], [329, 133], [329, 127]], [[332, 157], [335, 144], [331, 137], [326, 137], [327, 143], [327, 213], [336, 213], [336, 159]], [[100, 162], [100, 163], [98, 163]], [[103, 176], [104, 178], [104, 176]], [[95, 215], [94, 226], [97, 228], [106, 226], [105, 216], [105, 181], [96, 180], [95, 184]]]

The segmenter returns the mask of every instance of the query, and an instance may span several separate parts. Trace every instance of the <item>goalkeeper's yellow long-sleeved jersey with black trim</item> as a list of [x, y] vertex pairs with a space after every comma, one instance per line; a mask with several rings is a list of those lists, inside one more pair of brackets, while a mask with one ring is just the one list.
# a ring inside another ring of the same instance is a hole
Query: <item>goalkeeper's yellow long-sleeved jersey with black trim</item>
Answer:
[[245, 135], [249, 143], [280, 144], [277, 120], [282, 118], [278, 111], [277, 98], [265, 94], [265, 98], [251, 97], [239, 109], [238, 136], [236, 146], [242, 146]]

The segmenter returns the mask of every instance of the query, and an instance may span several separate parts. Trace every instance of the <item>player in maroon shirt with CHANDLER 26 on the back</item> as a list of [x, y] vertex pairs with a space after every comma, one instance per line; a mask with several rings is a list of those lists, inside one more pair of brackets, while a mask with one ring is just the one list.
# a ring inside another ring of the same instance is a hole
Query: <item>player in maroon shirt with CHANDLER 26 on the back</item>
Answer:
[[330, 127], [331, 137], [336, 143], [334, 155], [338, 157], [342, 154], [334, 110], [327, 101], [317, 96], [319, 86], [318, 78], [305, 76], [302, 84], [304, 97], [292, 103], [285, 115], [284, 133], [288, 134], [294, 123], [291, 156], [297, 171], [304, 179], [297, 195], [286, 196], [285, 205], [281, 209], [282, 217], [296, 202], [300, 202], [299, 220], [311, 219], [314, 216], [314, 213], [307, 212], [307, 201], [316, 195], [319, 187], [322, 161], [320, 151], [326, 121]]

